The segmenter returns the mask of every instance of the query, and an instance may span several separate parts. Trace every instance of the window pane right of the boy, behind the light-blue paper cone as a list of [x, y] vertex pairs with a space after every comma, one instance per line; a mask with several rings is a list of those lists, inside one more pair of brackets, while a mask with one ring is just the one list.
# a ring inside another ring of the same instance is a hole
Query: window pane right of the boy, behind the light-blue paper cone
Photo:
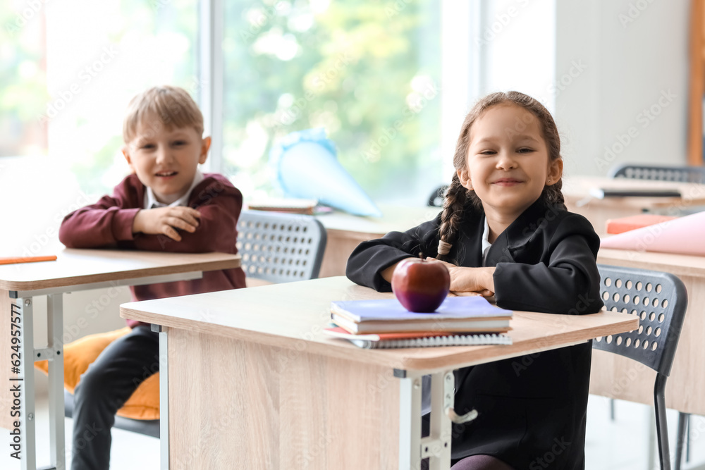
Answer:
[[377, 201], [421, 204], [441, 178], [439, 2], [231, 0], [223, 39], [223, 165], [271, 194], [276, 140], [325, 128]]

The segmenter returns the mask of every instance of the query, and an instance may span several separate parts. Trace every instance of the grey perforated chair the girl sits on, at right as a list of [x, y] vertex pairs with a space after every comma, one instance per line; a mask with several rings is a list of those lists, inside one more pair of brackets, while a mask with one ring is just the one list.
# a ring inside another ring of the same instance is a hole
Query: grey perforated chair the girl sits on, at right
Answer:
[[[682, 281], [670, 273], [638, 268], [598, 265], [600, 294], [608, 310], [639, 316], [639, 329], [593, 341], [593, 348], [620, 354], [656, 371], [654, 408], [658, 457], [662, 470], [670, 470], [666, 423], [666, 379], [670, 375], [688, 304]], [[675, 469], [680, 469], [685, 421], [678, 419]]]

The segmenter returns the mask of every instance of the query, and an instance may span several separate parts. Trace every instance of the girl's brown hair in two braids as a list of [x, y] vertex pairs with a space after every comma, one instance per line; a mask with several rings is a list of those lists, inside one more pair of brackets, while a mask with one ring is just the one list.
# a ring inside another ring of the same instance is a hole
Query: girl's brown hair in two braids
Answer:
[[[548, 159], [556, 161], [560, 159], [560, 137], [558, 137], [558, 129], [556, 122], [553, 120], [548, 109], [536, 99], [529, 97], [520, 92], [498, 92], [487, 95], [477, 101], [472, 107], [470, 113], [465, 116], [465, 121], [462, 123], [458, 144], [455, 145], [455, 156], [453, 156], [453, 166], [455, 170], [462, 170], [467, 164], [467, 152], [470, 149], [470, 128], [472, 124], [492, 106], [503, 103], [512, 103], [521, 106], [534, 116], [541, 123], [541, 130], [544, 132], [544, 140], [548, 149]], [[520, 132], [520, 129], [516, 130]], [[559, 178], [553, 185], [544, 186], [543, 192], [539, 199], [548, 206], [560, 206], [565, 209], [563, 202], [563, 193], [560, 188], [563, 186], [563, 181]], [[446, 255], [450, 251], [455, 240], [458, 238], [458, 230], [462, 219], [462, 211], [466, 204], [472, 203], [473, 206], [482, 210], [482, 202], [474, 191], [466, 190], [460, 184], [458, 173], [453, 173], [453, 179], [450, 180], [450, 187], [446, 191], [446, 196], [443, 198], [443, 211], [441, 212], [441, 226], [439, 227], [439, 259], [446, 260]]]

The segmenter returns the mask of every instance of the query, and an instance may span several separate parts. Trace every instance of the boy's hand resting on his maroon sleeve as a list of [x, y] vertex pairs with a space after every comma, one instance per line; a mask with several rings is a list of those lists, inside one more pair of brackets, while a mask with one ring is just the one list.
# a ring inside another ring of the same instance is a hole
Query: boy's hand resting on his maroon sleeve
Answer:
[[200, 216], [199, 211], [185, 206], [142, 209], [133, 221], [133, 233], [163, 234], [180, 242], [181, 235], [176, 229], [194, 233]]

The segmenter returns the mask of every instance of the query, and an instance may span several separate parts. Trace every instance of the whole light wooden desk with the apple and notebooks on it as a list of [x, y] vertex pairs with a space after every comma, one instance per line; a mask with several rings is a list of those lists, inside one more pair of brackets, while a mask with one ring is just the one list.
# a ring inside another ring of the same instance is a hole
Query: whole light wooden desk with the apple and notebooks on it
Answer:
[[[334, 277], [121, 305], [161, 331], [161, 468], [410, 470], [433, 457], [446, 470], [453, 369], [638, 326], [616, 312], [517, 311], [513, 345], [400, 350], [321, 333], [332, 300], [389, 297]], [[422, 439], [427, 373], [437, 411]]]

